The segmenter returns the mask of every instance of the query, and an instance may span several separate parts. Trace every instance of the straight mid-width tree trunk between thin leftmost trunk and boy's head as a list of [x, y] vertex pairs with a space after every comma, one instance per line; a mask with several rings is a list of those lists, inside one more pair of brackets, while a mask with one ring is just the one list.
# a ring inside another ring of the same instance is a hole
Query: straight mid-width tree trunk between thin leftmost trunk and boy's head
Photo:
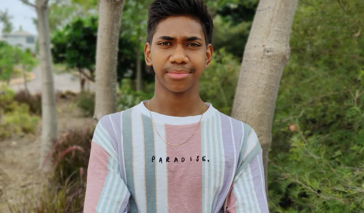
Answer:
[[116, 112], [116, 63], [124, 0], [99, 0], [94, 120]]

